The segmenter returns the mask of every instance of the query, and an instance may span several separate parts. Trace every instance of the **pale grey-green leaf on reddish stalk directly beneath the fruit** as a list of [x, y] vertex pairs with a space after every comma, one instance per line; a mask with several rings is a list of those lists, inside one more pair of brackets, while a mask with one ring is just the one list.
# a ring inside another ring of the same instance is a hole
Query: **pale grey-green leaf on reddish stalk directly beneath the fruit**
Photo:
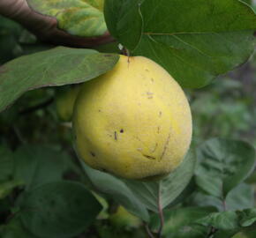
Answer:
[[158, 212], [165, 208], [184, 190], [190, 182], [195, 165], [195, 155], [188, 152], [182, 164], [167, 177], [157, 182], [137, 182], [127, 180], [126, 184], [147, 209]]

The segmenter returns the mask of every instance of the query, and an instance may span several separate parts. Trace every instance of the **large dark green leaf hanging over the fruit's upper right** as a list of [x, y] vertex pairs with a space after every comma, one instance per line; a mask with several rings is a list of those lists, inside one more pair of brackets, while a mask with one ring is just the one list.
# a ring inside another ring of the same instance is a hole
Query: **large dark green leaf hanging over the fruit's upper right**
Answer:
[[235, 0], [106, 0], [111, 34], [181, 86], [206, 86], [252, 54], [256, 16]]

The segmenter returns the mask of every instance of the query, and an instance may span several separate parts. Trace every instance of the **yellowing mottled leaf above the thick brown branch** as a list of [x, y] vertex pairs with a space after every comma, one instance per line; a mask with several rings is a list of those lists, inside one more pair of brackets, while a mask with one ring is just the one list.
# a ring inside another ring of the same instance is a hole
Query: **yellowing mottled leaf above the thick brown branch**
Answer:
[[41, 14], [57, 20], [58, 27], [79, 36], [98, 36], [107, 31], [103, 16], [104, 0], [28, 0]]

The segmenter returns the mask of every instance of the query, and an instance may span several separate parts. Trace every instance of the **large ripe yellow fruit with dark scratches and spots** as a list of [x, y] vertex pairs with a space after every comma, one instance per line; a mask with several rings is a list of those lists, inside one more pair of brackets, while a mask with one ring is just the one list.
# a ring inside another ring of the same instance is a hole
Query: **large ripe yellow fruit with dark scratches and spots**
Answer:
[[112, 71], [82, 86], [73, 116], [79, 158], [128, 179], [168, 175], [192, 138], [183, 90], [160, 65], [120, 56]]

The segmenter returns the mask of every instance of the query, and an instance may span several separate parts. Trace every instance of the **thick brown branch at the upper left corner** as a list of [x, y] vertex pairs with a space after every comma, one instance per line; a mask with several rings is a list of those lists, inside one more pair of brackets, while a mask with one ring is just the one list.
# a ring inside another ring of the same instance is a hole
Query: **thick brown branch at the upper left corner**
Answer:
[[34, 33], [39, 40], [55, 45], [91, 48], [115, 41], [109, 32], [98, 37], [79, 37], [66, 33], [57, 27], [55, 18], [34, 11], [28, 6], [26, 0], [1, 0], [0, 14], [19, 22]]

